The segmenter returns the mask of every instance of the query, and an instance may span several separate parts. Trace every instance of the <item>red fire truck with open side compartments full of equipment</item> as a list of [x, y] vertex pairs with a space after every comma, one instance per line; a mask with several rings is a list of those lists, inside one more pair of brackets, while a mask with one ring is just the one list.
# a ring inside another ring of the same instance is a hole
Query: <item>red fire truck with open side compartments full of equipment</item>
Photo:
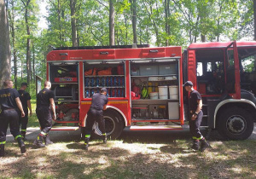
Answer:
[[[190, 80], [202, 95], [202, 126], [225, 138], [246, 139], [256, 114], [255, 69], [243, 72], [242, 65], [255, 53], [256, 42], [192, 43], [183, 54], [177, 46], [54, 49], [47, 55], [57, 113], [52, 130], [83, 131], [91, 96], [102, 87], [108, 89], [104, 118], [112, 139], [125, 127], [183, 130], [188, 94], [182, 84]], [[97, 125], [94, 129], [101, 136]]]

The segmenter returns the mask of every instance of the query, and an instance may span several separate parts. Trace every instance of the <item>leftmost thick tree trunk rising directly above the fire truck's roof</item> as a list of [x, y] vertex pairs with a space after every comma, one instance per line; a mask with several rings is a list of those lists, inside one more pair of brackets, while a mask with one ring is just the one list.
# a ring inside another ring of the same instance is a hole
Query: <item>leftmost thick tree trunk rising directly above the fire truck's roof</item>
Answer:
[[76, 20], [76, 3], [77, 3], [77, 0], [70, 0], [73, 47], [77, 47], [78, 46], [77, 20]]

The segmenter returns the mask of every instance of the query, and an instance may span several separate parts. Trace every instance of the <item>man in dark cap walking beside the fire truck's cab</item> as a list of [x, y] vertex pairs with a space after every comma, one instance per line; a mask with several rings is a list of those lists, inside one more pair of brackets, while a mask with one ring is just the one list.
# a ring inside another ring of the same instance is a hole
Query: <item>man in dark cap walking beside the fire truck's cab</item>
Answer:
[[[209, 144], [207, 143], [204, 136], [201, 135], [199, 127], [201, 125], [201, 120], [203, 113], [201, 111], [202, 100], [201, 95], [197, 90], [193, 89], [193, 83], [191, 81], [187, 81], [183, 84], [185, 90], [187, 90], [189, 94], [189, 130], [192, 134], [192, 138], [194, 140], [194, 144], [191, 148], [195, 150], [201, 150], [204, 152]], [[201, 142], [201, 146], [200, 146]]]

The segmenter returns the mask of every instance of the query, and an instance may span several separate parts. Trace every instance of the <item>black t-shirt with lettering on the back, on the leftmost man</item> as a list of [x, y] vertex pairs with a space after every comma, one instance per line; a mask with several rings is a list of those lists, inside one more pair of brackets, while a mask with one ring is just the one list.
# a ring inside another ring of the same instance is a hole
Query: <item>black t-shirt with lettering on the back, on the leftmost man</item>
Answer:
[[0, 90], [0, 104], [2, 110], [18, 109], [15, 99], [19, 96], [18, 91], [15, 89], [8, 88]]

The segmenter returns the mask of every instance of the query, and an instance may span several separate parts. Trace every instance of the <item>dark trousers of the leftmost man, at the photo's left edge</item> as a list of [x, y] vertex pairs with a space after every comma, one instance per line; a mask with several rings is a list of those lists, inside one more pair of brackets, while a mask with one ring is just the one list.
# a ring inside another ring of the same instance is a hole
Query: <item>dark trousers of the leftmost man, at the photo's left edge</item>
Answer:
[[19, 115], [15, 109], [4, 110], [0, 114], [0, 142], [6, 141], [8, 125], [14, 137], [20, 136]]

